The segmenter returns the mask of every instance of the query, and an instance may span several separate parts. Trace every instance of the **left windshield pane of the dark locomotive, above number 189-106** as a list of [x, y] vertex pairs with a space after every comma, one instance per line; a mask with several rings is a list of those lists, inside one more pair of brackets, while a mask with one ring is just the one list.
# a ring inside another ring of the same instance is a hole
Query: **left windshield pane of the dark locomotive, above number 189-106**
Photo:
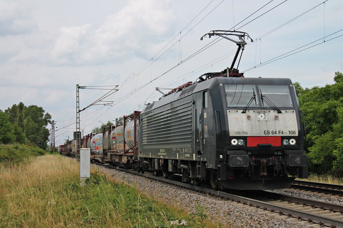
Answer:
[[[256, 86], [252, 84], [225, 84], [224, 89], [227, 107], [246, 107], [254, 91], [257, 91]], [[249, 107], [257, 106], [255, 99], [249, 105]]]

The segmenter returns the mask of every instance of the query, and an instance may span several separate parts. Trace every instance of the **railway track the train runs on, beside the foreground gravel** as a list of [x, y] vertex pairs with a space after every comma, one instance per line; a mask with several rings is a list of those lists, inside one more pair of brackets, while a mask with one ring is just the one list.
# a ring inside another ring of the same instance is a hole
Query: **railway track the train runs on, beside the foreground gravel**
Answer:
[[319, 224], [320, 226], [343, 228], [343, 205], [288, 196], [269, 191], [214, 191], [206, 186], [194, 186], [180, 182], [176, 178], [165, 179], [163, 177], [154, 176], [152, 173], [146, 172], [142, 174], [137, 171], [122, 169], [109, 164], [94, 163], [197, 192], [204, 192], [208, 195], [221, 198], [222, 200], [235, 201], [243, 205], [279, 213], [280, 215], [296, 218], [299, 221], [306, 220], [310, 223]]

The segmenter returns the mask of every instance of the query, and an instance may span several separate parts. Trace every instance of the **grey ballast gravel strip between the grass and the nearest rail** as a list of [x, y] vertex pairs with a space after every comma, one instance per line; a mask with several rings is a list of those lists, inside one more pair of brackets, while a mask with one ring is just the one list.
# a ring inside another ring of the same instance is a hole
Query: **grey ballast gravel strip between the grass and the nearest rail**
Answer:
[[99, 172], [112, 176], [118, 182], [134, 186], [146, 195], [168, 202], [170, 205], [183, 208], [188, 213], [196, 212], [197, 202], [205, 207], [208, 217], [212, 222], [221, 223], [223, 227], [239, 228], [285, 228], [285, 227], [320, 227], [296, 218], [280, 216], [250, 207], [237, 202], [223, 201], [220, 198], [209, 196], [205, 193], [194, 192], [167, 183], [158, 182], [150, 178], [136, 176], [130, 173], [108, 169], [104, 166], [92, 164]]

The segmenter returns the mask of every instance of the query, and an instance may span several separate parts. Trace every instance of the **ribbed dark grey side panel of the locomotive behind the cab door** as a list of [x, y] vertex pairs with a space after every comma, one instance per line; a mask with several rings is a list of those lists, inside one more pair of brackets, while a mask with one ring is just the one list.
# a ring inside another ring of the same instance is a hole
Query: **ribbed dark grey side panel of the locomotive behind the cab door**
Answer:
[[140, 157], [195, 160], [191, 96], [140, 116]]

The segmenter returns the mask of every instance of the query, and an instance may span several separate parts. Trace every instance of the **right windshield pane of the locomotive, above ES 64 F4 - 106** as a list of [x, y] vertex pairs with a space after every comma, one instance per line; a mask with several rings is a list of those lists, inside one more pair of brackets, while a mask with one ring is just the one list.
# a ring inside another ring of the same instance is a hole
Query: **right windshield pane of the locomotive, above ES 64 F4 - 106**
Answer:
[[[293, 107], [288, 85], [259, 85], [258, 92], [266, 96], [276, 107]], [[270, 107], [262, 102], [262, 107]]]

